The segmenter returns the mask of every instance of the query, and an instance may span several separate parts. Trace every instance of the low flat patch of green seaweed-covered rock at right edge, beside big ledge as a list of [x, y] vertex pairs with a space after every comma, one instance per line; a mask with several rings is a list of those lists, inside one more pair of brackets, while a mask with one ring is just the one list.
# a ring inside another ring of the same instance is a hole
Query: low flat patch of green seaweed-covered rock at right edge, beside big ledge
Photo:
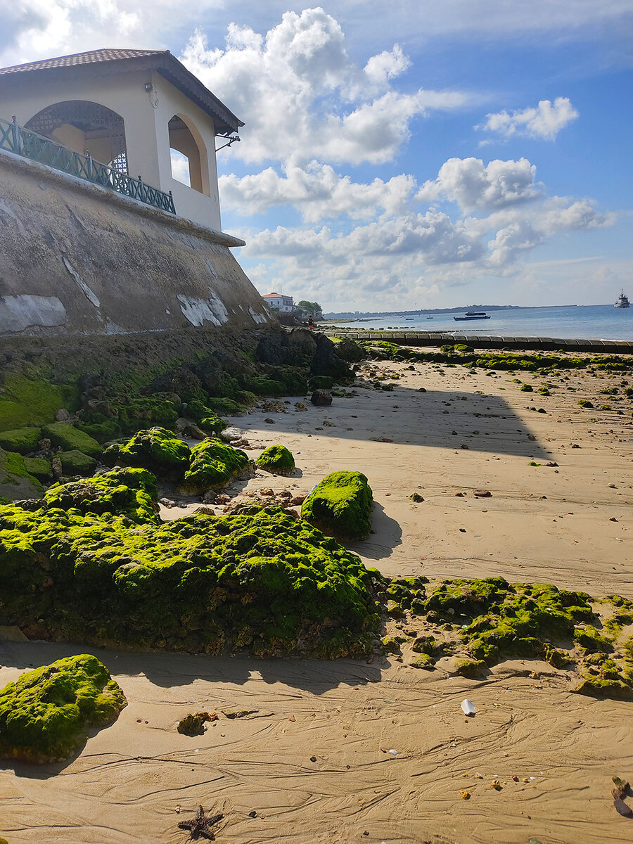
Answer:
[[[435, 625], [433, 636], [428, 627], [417, 634], [414, 651], [434, 657], [457, 652], [457, 673], [464, 676], [509, 657], [538, 657], [555, 668], [574, 663], [581, 676], [574, 691], [633, 697], [633, 636], [628, 624], [621, 623], [628, 622], [633, 609], [627, 598], [596, 600], [547, 583], [511, 585], [503, 577], [442, 581], [426, 598], [420, 597], [424, 586], [412, 582], [407, 597], [408, 581], [388, 582], [378, 596], [387, 617], [406, 619], [410, 613]], [[614, 615], [598, 616], [594, 604], [608, 605]], [[615, 619], [611, 626], [609, 619]], [[438, 628], [446, 631], [445, 641], [436, 641]], [[621, 641], [623, 628], [628, 638]]]

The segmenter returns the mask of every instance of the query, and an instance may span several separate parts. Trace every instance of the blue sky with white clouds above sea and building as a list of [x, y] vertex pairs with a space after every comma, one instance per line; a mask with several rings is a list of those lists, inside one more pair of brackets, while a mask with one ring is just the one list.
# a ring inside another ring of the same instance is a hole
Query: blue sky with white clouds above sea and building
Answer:
[[8, 15], [3, 65], [168, 48], [246, 122], [219, 153], [220, 201], [262, 293], [326, 311], [633, 293], [633, 0], [21, 0]]

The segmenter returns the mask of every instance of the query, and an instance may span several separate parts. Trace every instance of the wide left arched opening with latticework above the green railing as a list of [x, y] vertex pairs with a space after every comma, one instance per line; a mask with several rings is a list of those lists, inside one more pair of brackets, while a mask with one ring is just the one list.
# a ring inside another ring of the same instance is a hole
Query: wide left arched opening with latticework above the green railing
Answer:
[[55, 103], [38, 111], [25, 128], [127, 173], [123, 118], [106, 106], [89, 100]]

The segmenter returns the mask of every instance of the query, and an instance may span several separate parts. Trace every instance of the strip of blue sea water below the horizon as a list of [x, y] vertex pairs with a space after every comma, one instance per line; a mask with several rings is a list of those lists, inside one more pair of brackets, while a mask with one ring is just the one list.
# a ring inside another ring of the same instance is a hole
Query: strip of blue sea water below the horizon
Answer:
[[[469, 308], [468, 310], [481, 310]], [[487, 311], [490, 319], [456, 322], [465, 311], [436, 313], [420, 311], [403, 316], [385, 316], [329, 322], [349, 328], [394, 328], [407, 331], [495, 334], [505, 337], [548, 337], [582, 340], [632, 340], [633, 307], [576, 305], [543, 308], [504, 308]], [[411, 319], [410, 317], [413, 317]], [[432, 317], [430, 319], [429, 317]]]

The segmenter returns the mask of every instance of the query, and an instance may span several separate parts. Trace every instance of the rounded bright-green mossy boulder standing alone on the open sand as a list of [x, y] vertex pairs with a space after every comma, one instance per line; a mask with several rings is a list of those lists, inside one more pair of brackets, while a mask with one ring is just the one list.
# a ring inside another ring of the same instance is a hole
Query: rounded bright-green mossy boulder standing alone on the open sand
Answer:
[[322, 479], [301, 506], [301, 518], [327, 536], [364, 539], [370, 532], [373, 495], [360, 472], [333, 472]]

